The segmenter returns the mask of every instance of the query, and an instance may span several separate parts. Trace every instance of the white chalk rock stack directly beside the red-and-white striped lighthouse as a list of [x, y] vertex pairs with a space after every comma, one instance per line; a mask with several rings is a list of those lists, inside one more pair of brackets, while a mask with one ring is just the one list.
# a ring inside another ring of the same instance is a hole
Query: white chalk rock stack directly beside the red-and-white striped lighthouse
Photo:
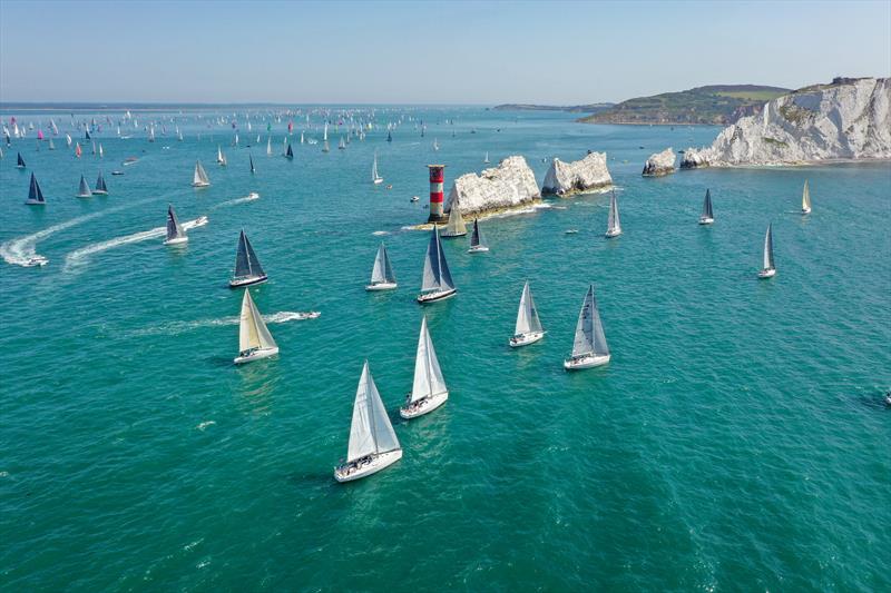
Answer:
[[456, 179], [446, 200], [446, 210], [450, 211], [458, 200], [464, 217], [480, 216], [528, 206], [540, 198], [532, 169], [525, 158], [512, 156], [499, 162], [498, 167]]

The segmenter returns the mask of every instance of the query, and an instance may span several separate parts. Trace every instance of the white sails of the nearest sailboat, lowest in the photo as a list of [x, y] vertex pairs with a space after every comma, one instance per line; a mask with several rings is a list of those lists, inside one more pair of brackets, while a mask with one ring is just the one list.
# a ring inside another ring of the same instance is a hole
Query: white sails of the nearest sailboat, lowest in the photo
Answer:
[[374, 377], [369, 370], [369, 362], [365, 360], [353, 403], [353, 422], [350, 425], [346, 461], [354, 462], [366, 455], [399, 448], [399, 439], [390, 424], [383, 402], [381, 402], [378, 386], [374, 385]]

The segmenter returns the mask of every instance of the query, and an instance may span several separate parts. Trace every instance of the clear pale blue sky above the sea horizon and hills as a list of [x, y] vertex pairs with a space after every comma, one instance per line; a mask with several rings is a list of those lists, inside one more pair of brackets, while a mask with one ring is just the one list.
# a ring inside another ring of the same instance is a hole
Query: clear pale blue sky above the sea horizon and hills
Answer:
[[891, 73], [891, 1], [0, 0], [0, 101], [574, 105]]

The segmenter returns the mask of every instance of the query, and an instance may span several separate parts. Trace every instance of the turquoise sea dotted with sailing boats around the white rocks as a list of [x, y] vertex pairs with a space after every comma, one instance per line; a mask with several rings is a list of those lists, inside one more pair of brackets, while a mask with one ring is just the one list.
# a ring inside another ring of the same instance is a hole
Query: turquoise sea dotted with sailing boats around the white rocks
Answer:
[[[327, 155], [298, 144], [297, 116], [288, 161], [286, 119], [267, 157], [265, 122], [247, 132], [244, 111], [216, 111], [237, 113], [241, 148], [189, 110], [135, 113], [130, 139], [105, 125], [102, 159], [82, 131], [80, 159], [63, 137], [37, 151], [36, 130], [3, 147], [0, 250], [50, 261], [0, 261], [0, 590], [891, 589], [888, 164], [645, 179], [648, 155], [718, 129], [446, 107], [378, 108], [346, 150], [332, 128]], [[67, 111], [11, 115], [71, 129]], [[123, 110], [75, 118], [94, 115]], [[161, 118], [149, 144], [141, 127]], [[307, 137], [321, 122], [313, 111]], [[429, 234], [403, 227], [427, 217], [429, 162], [447, 165], [448, 188], [486, 151], [520, 154], [540, 184], [549, 158], [588, 149], [609, 155], [621, 237], [603, 237], [607, 195], [488, 219], [490, 253], [446, 243], [458, 296], [415, 304]], [[392, 189], [370, 182], [375, 150]], [[190, 187], [197, 158], [210, 188]], [[100, 169], [110, 195], [76, 198]], [[31, 171], [42, 209], [22, 205]], [[711, 228], [697, 225], [706, 188]], [[261, 198], [235, 201], [249, 191]], [[138, 235], [168, 202], [209, 217], [184, 249]], [[779, 273], [758, 281], [768, 223]], [[242, 294], [225, 283], [241, 228], [270, 275], [253, 296], [278, 314], [281, 355], [236, 368]], [[380, 240], [400, 287], [368, 294]], [[526, 279], [548, 334], [512, 350]], [[589, 283], [613, 360], [568, 374]], [[321, 317], [282, 322], [304, 310]], [[451, 397], [407, 423], [423, 314]], [[342, 485], [365, 358], [404, 457]]]

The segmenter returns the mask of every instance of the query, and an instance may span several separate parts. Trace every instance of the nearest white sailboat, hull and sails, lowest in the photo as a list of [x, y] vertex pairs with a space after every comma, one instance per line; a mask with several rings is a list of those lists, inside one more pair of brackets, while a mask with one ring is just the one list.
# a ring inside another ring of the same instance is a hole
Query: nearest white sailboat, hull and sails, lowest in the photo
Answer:
[[380, 472], [401, 458], [402, 447], [365, 360], [353, 403], [346, 461], [334, 468], [334, 480], [352, 482]]

